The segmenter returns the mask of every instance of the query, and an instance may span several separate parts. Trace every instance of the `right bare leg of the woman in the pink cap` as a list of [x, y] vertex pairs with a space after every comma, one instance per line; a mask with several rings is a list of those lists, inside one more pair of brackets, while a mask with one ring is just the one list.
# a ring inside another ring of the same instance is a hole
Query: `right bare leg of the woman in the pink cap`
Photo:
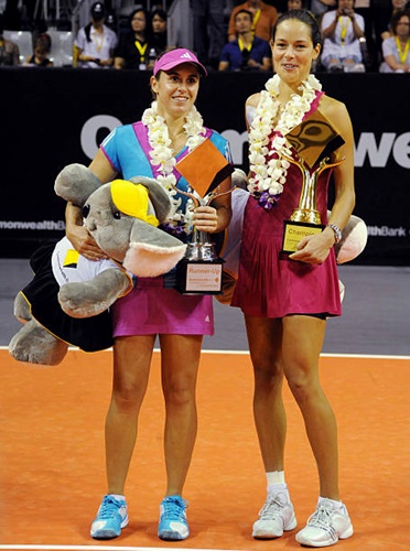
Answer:
[[161, 335], [166, 496], [182, 495], [194, 450], [202, 335]]

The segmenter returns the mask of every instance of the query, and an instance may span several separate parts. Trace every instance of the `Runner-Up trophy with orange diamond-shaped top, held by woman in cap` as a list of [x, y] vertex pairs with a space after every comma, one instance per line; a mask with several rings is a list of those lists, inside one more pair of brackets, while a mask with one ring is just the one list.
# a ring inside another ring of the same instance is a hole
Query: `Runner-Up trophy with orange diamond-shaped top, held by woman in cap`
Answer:
[[[175, 191], [191, 197], [195, 207], [207, 206], [234, 190], [219, 190], [234, 166], [208, 139], [176, 163], [176, 170], [186, 179], [192, 192], [176, 186]], [[185, 257], [176, 267], [176, 289], [183, 294], [220, 294], [223, 263], [209, 235], [194, 227]]]

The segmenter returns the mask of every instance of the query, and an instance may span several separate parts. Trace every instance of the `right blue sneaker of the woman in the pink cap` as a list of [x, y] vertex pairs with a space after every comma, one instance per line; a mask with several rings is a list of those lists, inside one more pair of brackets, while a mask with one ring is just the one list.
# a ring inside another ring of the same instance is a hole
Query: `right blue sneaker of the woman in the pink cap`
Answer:
[[181, 496], [164, 497], [160, 505], [158, 537], [165, 541], [185, 540], [190, 536], [186, 520], [188, 504]]

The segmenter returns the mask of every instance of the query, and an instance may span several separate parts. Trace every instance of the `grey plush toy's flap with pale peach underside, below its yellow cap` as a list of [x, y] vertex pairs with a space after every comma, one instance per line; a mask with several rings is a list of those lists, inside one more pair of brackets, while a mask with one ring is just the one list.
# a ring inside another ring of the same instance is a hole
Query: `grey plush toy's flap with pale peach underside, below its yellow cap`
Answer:
[[172, 270], [183, 258], [185, 249], [186, 245], [176, 237], [136, 219], [122, 266], [140, 278], [155, 278]]

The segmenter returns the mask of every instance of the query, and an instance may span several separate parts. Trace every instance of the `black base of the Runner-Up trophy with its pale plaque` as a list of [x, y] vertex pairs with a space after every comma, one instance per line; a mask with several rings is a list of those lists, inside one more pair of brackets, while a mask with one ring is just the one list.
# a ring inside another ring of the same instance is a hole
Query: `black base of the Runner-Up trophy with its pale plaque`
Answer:
[[182, 259], [176, 267], [176, 290], [182, 294], [222, 294], [224, 260]]

